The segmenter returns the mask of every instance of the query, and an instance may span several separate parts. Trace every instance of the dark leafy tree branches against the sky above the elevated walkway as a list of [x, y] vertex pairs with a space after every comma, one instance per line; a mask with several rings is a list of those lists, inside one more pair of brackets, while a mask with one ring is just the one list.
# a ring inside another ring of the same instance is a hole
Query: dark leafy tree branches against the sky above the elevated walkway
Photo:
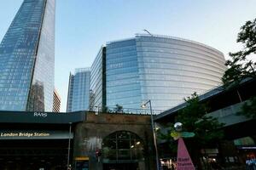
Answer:
[[224, 87], [236, 85], [247, 77], [256, 77], [256, 61], [248, 59], [248, 56], [256, 54], [256, 19], [248, 20], [238, 33], [236, 42], [243, 44], [243, 49], [236, 53], [230, 53], [230, 59], [225, 63], [228, 69], [224, 72], [222, 82]]

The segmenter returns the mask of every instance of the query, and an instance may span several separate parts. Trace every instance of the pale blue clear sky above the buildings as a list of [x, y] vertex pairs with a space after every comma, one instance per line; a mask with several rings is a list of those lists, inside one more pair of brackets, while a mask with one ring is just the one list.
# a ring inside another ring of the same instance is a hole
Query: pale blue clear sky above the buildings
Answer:
[[[21, 3], [0, 1], [1, 41]], [[61, 111], [66, 111], [69, 72], [89, 67], [105, 42], [147, 29], [205, 43], [227, 57], [241, 48], [237, 32], [256, 17], [255, 7], [255, 0], [56, 0], [55, 88]]]

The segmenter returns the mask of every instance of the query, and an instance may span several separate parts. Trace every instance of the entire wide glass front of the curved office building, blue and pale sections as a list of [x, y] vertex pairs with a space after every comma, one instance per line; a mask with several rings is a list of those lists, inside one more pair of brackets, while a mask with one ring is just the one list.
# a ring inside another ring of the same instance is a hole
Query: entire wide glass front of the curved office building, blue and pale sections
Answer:
[[165, 111], [221, 84], [224, 54], [200, 42], [137, 35], [106, 45], [107, 105]]

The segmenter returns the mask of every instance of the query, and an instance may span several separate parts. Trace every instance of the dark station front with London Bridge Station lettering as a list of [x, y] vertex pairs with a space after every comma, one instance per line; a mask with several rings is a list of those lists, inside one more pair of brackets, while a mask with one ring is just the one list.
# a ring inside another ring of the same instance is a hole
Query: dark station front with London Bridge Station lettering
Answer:
[[0, 169], [67, 169], [73, 130], [83, 117], [81, 112], [0, 111]]

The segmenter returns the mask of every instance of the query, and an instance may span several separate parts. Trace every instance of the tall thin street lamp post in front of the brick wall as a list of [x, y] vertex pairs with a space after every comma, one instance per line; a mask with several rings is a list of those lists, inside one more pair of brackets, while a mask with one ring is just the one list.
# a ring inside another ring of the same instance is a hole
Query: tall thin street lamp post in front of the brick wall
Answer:
[[152, 111], [152, 106], [151, 106], [151, 100], [150, 99], [148, 99], [148, 101], [146, 103], [144, 103], [142, 105], [142, 107], [145, 108], [147, 104], [149, 104], [149, 109], [150, 109], [151, 127], [152, 127], [152, 131], [153, 131], [153, 139], [154, 139], [156, 169], [160, 170], [160, 161], [159, 161], [159, 156], [158, 156], [158, 149], [157, 149], [156, 135], [155, 135], [155, 127], [154, 127], [154, 121], [153, 121], [153, 111]]

